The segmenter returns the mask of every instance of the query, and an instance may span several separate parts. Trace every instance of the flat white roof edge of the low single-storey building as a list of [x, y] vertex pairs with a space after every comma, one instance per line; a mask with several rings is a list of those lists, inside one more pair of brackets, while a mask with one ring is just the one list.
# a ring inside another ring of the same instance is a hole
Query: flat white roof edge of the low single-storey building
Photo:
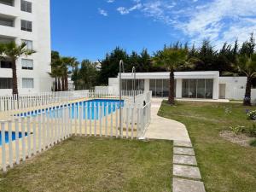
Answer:
[[[218, 71], [175, 72], [175, 79], [218, 79]], [[118, 76], [119, 77], [119, 76]], [[133, 73], [122, 73], [122, 79], [133, 79]], [[169, 72], [136, 73], [136, 79], [169, 79]]]

